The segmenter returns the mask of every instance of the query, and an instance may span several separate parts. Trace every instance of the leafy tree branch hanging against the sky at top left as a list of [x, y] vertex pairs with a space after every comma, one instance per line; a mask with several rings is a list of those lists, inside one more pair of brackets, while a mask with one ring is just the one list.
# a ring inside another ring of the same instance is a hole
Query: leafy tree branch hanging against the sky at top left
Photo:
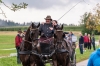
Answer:
[[[28, 4], [26, 4], [26, 3], [20, 3], [20, 4], [14, 4], [14, 3], [12, 3], [12, 5], [11, 5], [11, 7], [9, 7], [9, 6], [7, 6], [2, 0], [0, 0], [0, 4], [3, 4], [4, 6], [6, 6], [7, 8], [9, 8], [10, 10], [12, 10], [12, 11], [17, 11], [17, 10], [19, 10], [19, 9], [25, 9], [25, 8], [27, 8], [27, 6], [28, 6]], [[2, 15], [4, 15], [4, 17], [6, 17], [6, 15], [5, 15], [5, 13], [4, 13], [4, 11], [2, 10], [2, 8], [0, 7], [0, 10], [2, 11], [2, 13], [0, 13], [0, 14], [2, 14]]]

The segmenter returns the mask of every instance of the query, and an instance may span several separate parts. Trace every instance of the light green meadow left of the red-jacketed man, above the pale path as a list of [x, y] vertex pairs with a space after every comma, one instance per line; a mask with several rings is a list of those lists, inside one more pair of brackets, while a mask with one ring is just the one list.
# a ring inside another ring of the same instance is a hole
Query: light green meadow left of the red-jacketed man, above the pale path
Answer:
[[14, 38], [13, 35], [0, 35], [0, 56], [8, 56], [10, 53], [16, 52], [16, 50], [2, 50], [15, 48]]

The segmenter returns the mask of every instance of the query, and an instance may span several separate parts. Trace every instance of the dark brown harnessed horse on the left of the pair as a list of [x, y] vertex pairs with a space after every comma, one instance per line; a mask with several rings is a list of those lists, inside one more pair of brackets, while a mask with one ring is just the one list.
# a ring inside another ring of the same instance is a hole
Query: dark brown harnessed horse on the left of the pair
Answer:
[[38, 44], [39, 25], [40, 23], [37, 26], [34, 23], [31, 24], [26, 32], [25, 40], [20, 47], [20, 60], [23, 66], [35, 66], [39, 64], [39, 57], [31, 53], [33, 50], [36, 51], [36, 45]]

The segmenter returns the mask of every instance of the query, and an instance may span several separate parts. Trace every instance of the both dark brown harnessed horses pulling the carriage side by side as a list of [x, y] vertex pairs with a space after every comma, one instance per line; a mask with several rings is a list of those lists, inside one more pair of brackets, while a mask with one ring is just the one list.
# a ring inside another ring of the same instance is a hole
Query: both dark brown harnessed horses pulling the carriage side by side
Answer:
[[[32, 23], [26, 32], [25, 40], [21, 44], [19, 54], [23, 66], [45, 66], [39, 51], [41, 48], [38, 46], [40, 44], [38, 40], [39, 26], [40, 23], [38, 25]], [[71, 46], [64, 40], [65, 35], [62, 29], [63, 25], [55, 27], [54, 42], [52, 44], [55, 52], [50, 58], [52, 59], [52, 66], [71, 66]]]

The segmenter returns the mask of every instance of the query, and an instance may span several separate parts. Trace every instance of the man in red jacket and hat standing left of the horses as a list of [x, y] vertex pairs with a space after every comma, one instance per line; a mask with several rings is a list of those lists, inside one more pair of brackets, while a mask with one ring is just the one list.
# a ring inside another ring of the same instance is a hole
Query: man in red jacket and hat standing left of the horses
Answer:
[[21, 61], [20, 61], [20, 58], [19, 58], [20, 44], [22, 42], [21, 33], [22, 33], [22, 31], [18, 30], [18, 34], [15, 37], [15, 47], [16, 47], [16, 50], [17, 50], [17, 63], [18, 64], [21, 64]]

